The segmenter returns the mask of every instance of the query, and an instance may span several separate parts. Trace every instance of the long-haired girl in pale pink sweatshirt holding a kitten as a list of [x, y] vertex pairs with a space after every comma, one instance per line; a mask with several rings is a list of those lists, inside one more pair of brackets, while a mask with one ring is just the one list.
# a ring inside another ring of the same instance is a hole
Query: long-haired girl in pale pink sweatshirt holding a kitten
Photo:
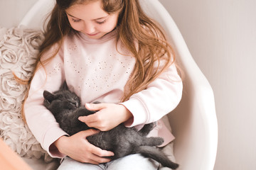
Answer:
[[43, 91], [57, 91], [66, 81], [97, 111], [79, 120], [102, 131], [159, 120], [150, 135], [163, 137], [166, 146], [174, 137], [160, 119], [178, 105], [182, 82], [161, 29], [138, 0], [56, 2], [23, 106], [28, 127], [51, 157], [65, 157], [59, 169], [158, 169], [139, 154], [107, 159], [112, 152], [86, 140], [97, 130], [68, 136], [43, 106]]

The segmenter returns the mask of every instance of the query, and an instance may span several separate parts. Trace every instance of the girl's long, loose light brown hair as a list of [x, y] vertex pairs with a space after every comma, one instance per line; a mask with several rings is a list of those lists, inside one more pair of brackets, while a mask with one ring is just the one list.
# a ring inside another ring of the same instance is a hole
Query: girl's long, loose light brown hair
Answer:
[[[43, 66], [44, 63], [41, 61], [43, 54], [56, 43], [60, 48], [63, 37], [75, 31], [70, 26], [65, 10], [74, 4], [89, 1], [98, 0], [56, 0], [57, 3], [50, 14], [50, 20], [44, 31], [45, 40], [40, 47], [33, 74], [38, 67]], [[161, 72], [164, 72], [167, 67], [174, 63], [174, 50], [167, 42], [160, 26], [146, 16], [138, 0], [100, 1], [102, 1], [103, 10], [107, 13], [119, 11], [117, 42], [121, 41], [136, 59], [134, 70], [122, 97], [122, 101], [127, 101], [132, 94], [146, 89], [146, 86], [154, 81]], [[57, 52], [58, 50], [52, 57], [55, 57]], [[161, 67], [159, 67], [160, 60]], [[164, 63], [163, 66], [162, 63]], [[33, 76], [27, 81], [28, 88], [32, 79]]]

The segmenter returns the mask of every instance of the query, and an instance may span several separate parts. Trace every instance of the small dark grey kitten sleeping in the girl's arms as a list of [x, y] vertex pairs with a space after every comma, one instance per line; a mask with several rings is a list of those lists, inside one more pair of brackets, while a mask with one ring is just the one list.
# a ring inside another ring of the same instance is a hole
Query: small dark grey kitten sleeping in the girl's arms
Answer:
[[[88, 111], [84, 106], [80, 106], [80, 98], [68, 90], [65, 82], [63, 87], [53, 94], [44, 91], [43, 97], [45, 98], [43, 105], [53, 113], [60, 128], [68, 135], [90, 129], [85, 123], [78, 120], [78, 117], [93, 114], [95, 111]], [[162, 166], [171, 169], [178, 168], [178, 164], [171, 162], [163, 152], [156, 148], [164, 142], [161, 137], [146, 137], [153, 128], [154, 123], [144, 125], [139, 131], [136, 128], [126, 128], [120, 124], [107, 132], [89, 136], [87, 140], [92, 145], [114, 152], [112, 159], [118, 159], [128, 154], [142, 154], [144, 157], [156, 160]]]

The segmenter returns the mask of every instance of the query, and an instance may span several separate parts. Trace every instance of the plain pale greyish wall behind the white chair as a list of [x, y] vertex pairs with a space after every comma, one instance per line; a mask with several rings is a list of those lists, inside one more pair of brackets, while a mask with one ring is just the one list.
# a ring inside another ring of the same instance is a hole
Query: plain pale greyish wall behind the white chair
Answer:
[[[0, 0], [0, 26], [17, 26], [36, 1]], [[256, 169], [256, 1], [160, 1], [213, 87], [219, 126], [214, 170]]]

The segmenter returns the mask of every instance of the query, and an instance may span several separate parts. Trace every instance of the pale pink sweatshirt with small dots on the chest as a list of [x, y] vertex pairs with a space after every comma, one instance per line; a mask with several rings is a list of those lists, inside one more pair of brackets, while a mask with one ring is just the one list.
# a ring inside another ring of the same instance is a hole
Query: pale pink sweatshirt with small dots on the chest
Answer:
[[[97, 40], [87, 38], [82, 33], [71, 33], [64, 38], [53, 60], [45, 68], [37, 70], [24, 111], [28, 127], [51, 157], [65, 157], [50, 145], [67, 134], [60, 129], [53, 114], [43, 106], [43, 91], [57, 91], [66, 80], [69, 89], [80, 96], [82, 104], [94, 101], [119, 103], [134, 69], [135, 59], [120, 42], [117, 48], [116, 31]], [[55, 49], [56, 46], [53, 46], [42, 60], [51, 57]], [[173, 64], [147, 89], [121, 104], [134, 116], [130, 127], [139, 127], [160, 120], [174, 110], [181, 100], [181, 94], [182, 82]], [[149, 135], [163, 137], [164, 145], [174, 140], [161, 120]]]

